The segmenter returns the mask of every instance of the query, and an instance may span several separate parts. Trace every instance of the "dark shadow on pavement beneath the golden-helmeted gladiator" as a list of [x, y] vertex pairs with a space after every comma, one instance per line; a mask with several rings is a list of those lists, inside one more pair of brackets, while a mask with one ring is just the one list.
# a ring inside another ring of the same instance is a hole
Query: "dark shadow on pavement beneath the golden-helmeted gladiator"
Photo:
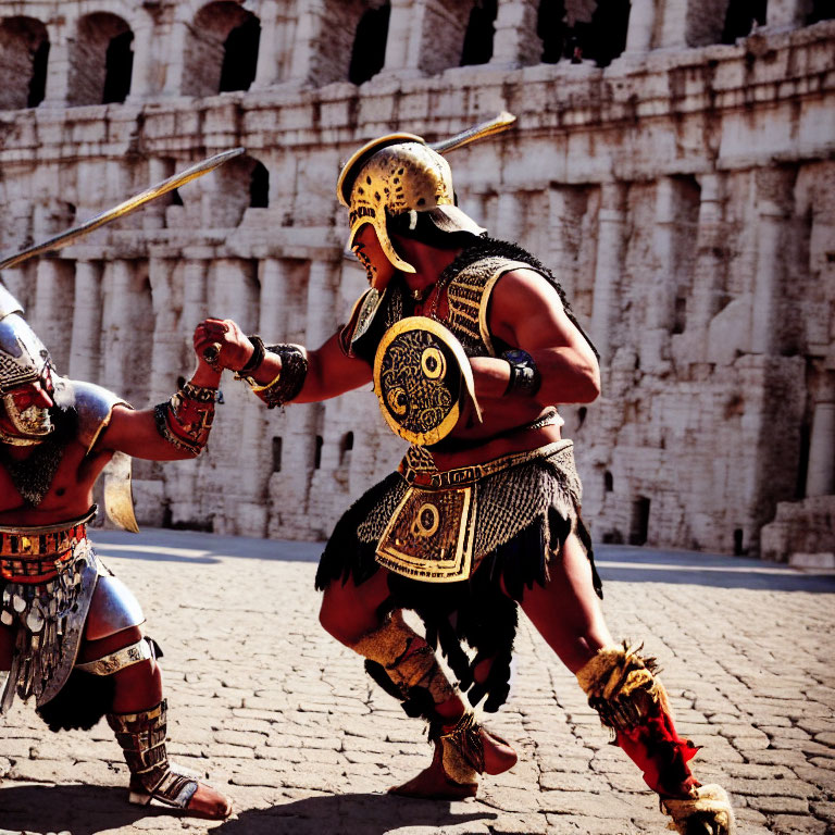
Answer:
[[212, 835], [384, 835], [402, 826], [435, 830], [470, 821], [486, 822], [496, 817], [485, 811], [454, 813], [449, 801], [409, 800], [376, 794], [328, 795], [279, 803], [271, 809], [242, 811], [213, 828]]

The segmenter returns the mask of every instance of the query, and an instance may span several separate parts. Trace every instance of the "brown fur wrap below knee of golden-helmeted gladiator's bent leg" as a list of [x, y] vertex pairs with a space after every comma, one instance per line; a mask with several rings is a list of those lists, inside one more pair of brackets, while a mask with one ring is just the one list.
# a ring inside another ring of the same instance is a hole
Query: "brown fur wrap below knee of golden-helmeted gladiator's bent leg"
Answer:
[[403, 621], [399, 611], [391, 612], [383, 625], [364, 635], [351, 648], [379, 664], [401, 698], [423, 705], [424, 710], [431, 710], [433, 705], [440, 705], [454, 695], [438, 665], [435, 650]]

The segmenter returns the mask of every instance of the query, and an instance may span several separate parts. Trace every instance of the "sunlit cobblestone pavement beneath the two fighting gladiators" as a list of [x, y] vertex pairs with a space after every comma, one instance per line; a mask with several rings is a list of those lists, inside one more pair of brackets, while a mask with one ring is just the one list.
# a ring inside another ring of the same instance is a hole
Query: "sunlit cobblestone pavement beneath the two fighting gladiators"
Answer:
[[[382, 794], [429, 760], [421, 723], [319, 626], [319, 547], [97, 532], [165, 650], [173, 758], [227, 792], [224, 823], [127, 803], [109, 728], [52, 734], [30, 705], [0, 722], [0, 833], [213, 835], [665, 832], [636, 769], [524, 622], [510, 702], [490, 727], [520, 763], [477, 800]], [[659, 658], [703, 782], [740, 834], [835, 833], [835, 576], [726, 557], [599, 549], [614, 634]]]

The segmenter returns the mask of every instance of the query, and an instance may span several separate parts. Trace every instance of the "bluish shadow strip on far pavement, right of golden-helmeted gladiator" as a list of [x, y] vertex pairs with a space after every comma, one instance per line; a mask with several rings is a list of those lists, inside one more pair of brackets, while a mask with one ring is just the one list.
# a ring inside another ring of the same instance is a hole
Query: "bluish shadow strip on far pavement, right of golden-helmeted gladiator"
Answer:
[[835, 594], [835, 574], [832, 572], [800, 570], [745, 557], [603, 545], [595, 548], [595, 562], [605, 585], [607, 582], [672, 583], [758, 591]]

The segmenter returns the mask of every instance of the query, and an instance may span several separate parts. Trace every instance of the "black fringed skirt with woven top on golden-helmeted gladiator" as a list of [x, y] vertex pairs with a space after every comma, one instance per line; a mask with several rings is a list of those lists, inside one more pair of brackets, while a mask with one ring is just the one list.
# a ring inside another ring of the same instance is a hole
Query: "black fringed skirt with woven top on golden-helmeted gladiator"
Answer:
[[[591, 538], [579, 516], [581, 487], [570, 447], [568, 452], [568, 457], [563, 449], [557, 456], [535, 458], [476, 484], [476, 568], [468, 579], [431, 583], [394, 572], [388, 575], [390, 595], [381, 614], [395, 609], [416, 612], [427, 641], [440, 648], [460, 689], [474, 706], [487, 697], [487, 712], [498, 710], [510, 689], [518, 603], [526, 588], [546, 585], [549, 565], [560, 559], [572, 532], [588, 556], [595, 591], [603, 596]], [[348, 578], [361, 585], [381, 570], [377, 541], [406, 486], [403, 477], [392, 473], [342, 515], [320, 560], [317, 589]], [[491, 661], [489, 673], [477, 683], [474, 670], [486, 660]], [[382, 673], [385, 680], [385, 673], [366, 662], [369, 666], [372, 677], [385, 686], [379, 677]]]

